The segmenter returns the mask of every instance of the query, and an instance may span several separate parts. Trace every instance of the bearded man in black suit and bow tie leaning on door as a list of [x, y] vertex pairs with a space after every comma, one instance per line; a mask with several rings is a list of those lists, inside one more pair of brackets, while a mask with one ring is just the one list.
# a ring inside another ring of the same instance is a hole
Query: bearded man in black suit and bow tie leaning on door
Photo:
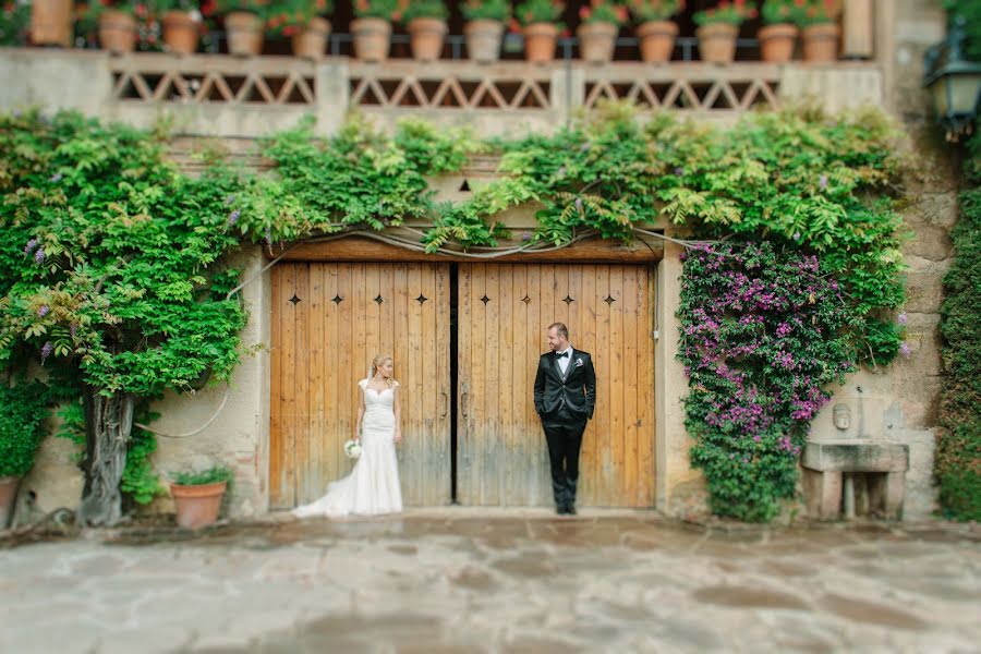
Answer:
[[569, 343], [569, 329], [561, 323], [548, 327], [548, 348], [538, 359], [535, 411], [548, 441], [556, 512], [574, 516], [579, 448], [596, 403], [596, 372], [589, 352]]

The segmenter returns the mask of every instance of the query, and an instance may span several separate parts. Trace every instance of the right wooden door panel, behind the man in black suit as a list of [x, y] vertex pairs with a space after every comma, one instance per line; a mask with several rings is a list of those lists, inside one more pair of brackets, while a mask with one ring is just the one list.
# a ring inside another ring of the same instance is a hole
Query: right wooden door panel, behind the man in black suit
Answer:
[[458, 499], [549, 505], [533, 385], [545, 329], [569, 326], [597, 374], [580, 504], [654, 502], [653, 296], [645, 266], [468, 264], [459, 274]]

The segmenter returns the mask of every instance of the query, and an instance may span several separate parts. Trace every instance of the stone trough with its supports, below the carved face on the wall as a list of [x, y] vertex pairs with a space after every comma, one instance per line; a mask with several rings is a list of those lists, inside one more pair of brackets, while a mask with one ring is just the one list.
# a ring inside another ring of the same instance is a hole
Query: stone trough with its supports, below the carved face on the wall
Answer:
[[849, 473], [864, 473], [869, 512], [891, 519], [903, 517], [909, 446], [870, 438], [808, 440], [800, 464], [811, 518], [841, 517], [845, 475]]

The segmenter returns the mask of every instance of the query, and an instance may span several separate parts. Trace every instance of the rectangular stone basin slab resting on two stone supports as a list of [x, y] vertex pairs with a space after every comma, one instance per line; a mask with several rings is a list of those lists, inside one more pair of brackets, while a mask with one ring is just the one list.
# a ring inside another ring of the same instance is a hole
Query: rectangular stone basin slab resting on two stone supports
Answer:
[[809, 440], [800, 464], [820, 472], [905, 472], [909, 446], [869, 438]]

